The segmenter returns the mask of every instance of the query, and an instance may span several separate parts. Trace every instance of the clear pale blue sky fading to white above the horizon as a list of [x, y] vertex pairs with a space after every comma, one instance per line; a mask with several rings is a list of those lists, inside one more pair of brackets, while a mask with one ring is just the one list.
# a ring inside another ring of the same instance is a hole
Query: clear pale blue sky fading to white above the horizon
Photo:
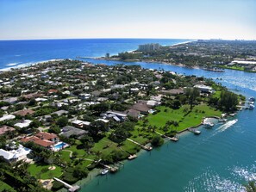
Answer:
[[0, 0], [0, 39], [256, 40], [256, 0]]

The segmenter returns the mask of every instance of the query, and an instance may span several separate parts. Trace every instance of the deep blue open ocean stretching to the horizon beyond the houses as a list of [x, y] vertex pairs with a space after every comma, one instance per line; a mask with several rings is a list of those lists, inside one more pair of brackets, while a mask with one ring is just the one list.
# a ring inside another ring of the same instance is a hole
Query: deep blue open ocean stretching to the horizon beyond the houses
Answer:
[[140, 44], [173, 45], [188, 40], [81, 39], [81, 40], [0, 40], [0, 69], [32, 65], [50, 59], [102, 57], [132, 51]]

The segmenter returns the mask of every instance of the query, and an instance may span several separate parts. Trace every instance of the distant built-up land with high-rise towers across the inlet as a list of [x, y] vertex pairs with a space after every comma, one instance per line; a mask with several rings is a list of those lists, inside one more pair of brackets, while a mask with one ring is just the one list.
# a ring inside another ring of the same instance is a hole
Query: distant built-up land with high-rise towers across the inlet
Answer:
[[119, 53], [100, 59], [159, 62], [209, 71], [233, 69], [256, 71], [255, 40], [194, 40], [174, 46], [140, 45], [133, 52]]

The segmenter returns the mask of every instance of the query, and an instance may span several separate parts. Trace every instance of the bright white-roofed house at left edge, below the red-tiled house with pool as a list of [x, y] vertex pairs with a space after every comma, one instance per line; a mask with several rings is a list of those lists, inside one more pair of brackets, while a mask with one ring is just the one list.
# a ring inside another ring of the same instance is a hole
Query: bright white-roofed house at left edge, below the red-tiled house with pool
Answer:
[[31, 149], [19, 145], [17, 149], [11, 151], [0, 149], [0, 157], [2, 156], [5, 161], [13, 163], [27, 158], [30, 152]]

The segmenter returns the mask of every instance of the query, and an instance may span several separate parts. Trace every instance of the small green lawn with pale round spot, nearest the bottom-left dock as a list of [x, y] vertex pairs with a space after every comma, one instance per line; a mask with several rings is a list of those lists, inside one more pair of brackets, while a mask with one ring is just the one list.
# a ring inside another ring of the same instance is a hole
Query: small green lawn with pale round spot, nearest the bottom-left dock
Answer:
[[[49, 170], [48, 168], [52, 165], [40, 165], [40, 164], [30, 164], [28, 167], [28, 171], [30, 174], [38, 179], [50, 179], [53, 177], [60, 177], [62, 174], [61, 168], [57, 165], [55, 166], [55, 170]], [[42, 170], [47, 170], [46, 172], [42, 172]]]

